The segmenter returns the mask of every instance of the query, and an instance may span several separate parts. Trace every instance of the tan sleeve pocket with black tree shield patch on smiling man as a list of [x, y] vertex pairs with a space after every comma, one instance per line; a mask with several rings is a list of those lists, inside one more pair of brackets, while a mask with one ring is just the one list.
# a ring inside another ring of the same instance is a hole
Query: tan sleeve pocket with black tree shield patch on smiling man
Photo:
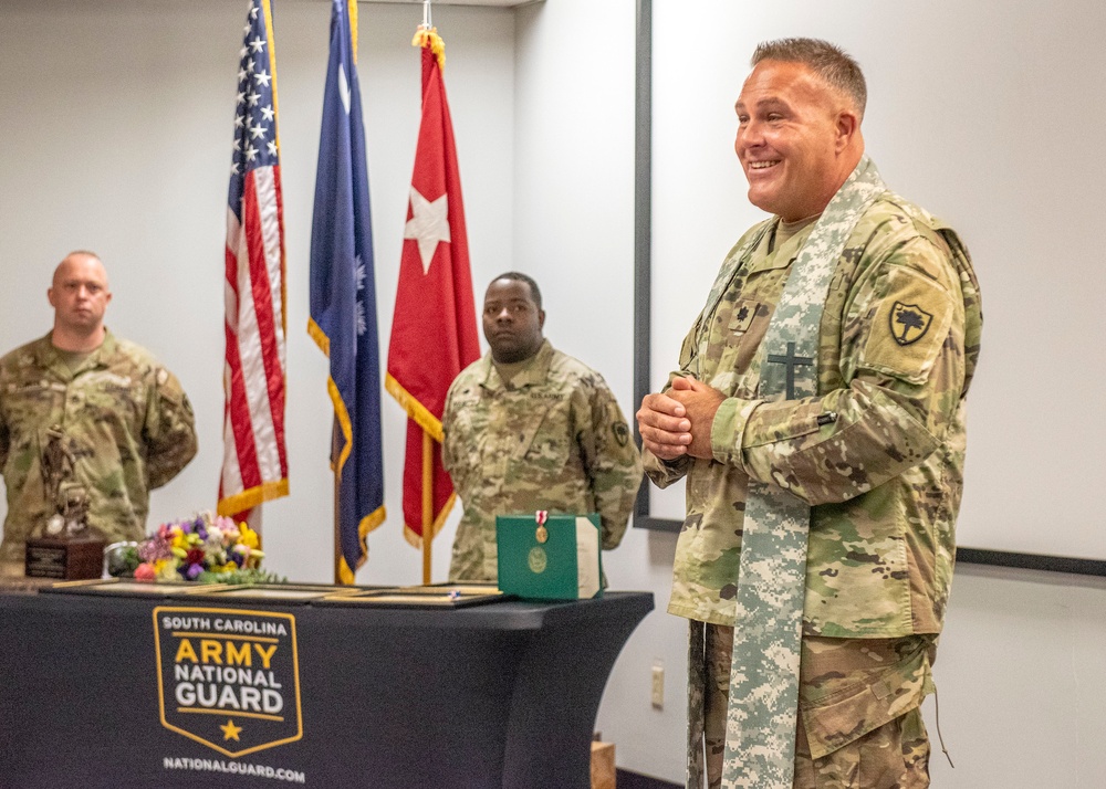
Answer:
[[952, 312], [952, 298], [939, 284], [909, 269], [893, 269], [859, 367], [922, 383], [948, 336]]

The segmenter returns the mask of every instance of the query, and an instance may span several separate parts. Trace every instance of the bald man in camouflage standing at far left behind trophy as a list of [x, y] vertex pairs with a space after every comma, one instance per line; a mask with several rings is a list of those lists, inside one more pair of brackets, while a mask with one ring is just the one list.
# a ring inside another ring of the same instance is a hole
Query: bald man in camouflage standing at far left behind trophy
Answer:
[[0, 359], [6, 575], [22, 575], [25, 540], [43, 536], [66, 506], [62, 497], [82, 502], [92, 536], [140, 539], [149, 491], [196, 454], [192, 409], [180, 382], [104, 326], [112, 293], [100, 259], [67, 255], [46, 297], [53, 329]]

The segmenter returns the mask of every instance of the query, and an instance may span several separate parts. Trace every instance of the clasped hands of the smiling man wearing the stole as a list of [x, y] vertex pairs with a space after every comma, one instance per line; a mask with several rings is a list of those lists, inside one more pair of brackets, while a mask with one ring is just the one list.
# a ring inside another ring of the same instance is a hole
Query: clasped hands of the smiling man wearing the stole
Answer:
[[637, 412], [641, 442], [660, 460], [709, 459], [710, 428], [726, 396], [691, 376], [676, 377], [664, 393], [646, 394]]

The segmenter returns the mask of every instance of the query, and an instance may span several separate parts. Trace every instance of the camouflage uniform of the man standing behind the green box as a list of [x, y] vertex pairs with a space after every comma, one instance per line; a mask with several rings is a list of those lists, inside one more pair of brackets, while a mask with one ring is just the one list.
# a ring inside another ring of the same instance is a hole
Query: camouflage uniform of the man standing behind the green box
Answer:
[[617, 547], [641, 482], [641, 459], [603, 377], [549, 340], [504, 385], [491, 355], [449, 388], [442, 460], [465, 505], [450, 579], [494, 580], [495, 516], [598, 513]]

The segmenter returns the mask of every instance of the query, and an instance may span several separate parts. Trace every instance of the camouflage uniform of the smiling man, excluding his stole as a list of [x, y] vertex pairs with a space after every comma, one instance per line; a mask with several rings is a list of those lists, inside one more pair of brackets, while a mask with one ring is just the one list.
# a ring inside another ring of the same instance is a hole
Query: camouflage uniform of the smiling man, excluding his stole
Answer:
[[[749, 480], [812, 505], [800, 709], [806, 744], [822, 758], [916, 709], [931, 690], [982, 316], [952, 231], [884, 193], [837, 262], [822, 315], [818, 397], [760, 402], [757, 348], [813, 228], [775, 249], [778, 221], [738, 242], [734, 251], [755, 240], [684, 343], [680, 374], [728, 396], [711, 428], [713, 459], [661, 462], [647, 453], [645, 464], [661, 487], [687, 475], [668, 610], [712, 625], [735, 619]], [[702, 358], [700, 332], [709, 333]], [[849, 654], [864, 663], [865, 640], [912, 658], [885, 661], [881, 672], [844, 672], [863, 681], [843, 687], [834, 677]], [[818, 660], [834, 669], [822, 673]]]

